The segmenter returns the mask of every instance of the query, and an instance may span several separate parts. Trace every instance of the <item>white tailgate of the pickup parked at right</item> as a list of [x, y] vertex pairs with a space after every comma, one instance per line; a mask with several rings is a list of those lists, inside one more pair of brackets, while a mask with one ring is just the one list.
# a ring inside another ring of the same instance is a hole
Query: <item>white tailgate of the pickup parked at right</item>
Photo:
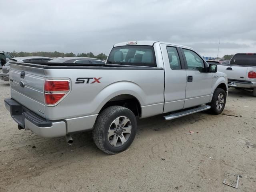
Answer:
[[246, 80], [247, 69], [247, 66], [218, 65], [218, 71], [226, 73], [232, 80]]

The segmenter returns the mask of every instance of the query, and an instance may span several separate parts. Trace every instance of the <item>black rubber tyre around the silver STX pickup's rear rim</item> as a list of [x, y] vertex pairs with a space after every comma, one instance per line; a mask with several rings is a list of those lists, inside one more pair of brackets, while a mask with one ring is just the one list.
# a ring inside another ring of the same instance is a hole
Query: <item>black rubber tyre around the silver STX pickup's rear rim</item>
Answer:
[[[108, 138], [108, 131], [113, 121], [120, 116], [125, 116], [130, 120], [132, 126], [129, 137], [121, 146], [112, 146]], [[97, 117], [93, 130], [93, 140], [96, 146], [107, 154], [117, 154], [126, 150], [134, 140], [137, 129], [137, 120], [134, 113], [122, 106], [110, 106], [103, 110]]]

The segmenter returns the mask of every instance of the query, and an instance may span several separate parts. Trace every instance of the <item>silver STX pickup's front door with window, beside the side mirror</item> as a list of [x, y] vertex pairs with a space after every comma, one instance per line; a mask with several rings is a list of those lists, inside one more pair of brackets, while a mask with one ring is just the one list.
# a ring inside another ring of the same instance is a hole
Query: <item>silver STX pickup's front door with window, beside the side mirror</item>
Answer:
[[193, 50], [182, 48], [186, 66], [186, 100], [184, 108], [190, 108], [210, 101], [212, 94], [212, 73], [206, 72], [208, 64]]

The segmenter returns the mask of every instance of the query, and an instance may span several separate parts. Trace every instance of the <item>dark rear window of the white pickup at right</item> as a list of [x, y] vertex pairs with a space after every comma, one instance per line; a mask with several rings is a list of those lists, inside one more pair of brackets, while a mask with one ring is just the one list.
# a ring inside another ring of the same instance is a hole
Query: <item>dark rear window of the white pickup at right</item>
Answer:
[[230, 60], [230, 64], [256, 66], [256, 54], [236, 54]]

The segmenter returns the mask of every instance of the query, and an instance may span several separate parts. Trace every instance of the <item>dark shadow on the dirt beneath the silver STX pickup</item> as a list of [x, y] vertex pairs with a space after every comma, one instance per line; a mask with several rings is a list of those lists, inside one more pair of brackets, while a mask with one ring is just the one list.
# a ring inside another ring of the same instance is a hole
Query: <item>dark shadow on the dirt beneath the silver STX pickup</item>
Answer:
[[[200, 120], [206, 120], [208, 116], [211, 115], [200, 112], [171, 121], [165, 121], [163, 115], [138, 120], [137, 134], [134, 143], [139, 142], [140, 138], [148, 139], [155, 135], [165, 134], [166, 132], [172, 133], [175, 130], [181, 131], [182, 134], [184, 132], [185, 134], [189, 131], [191, 124]], [[73, 134], [72, 138], [74, 144], [71, 146], [67, 144], [65, 137], [42, 140], [42, 142], [37, 144], [30, 143], [31, 148], [34, 145], [36, 146], [36, 150], [31, 149], [30, 152], [34, 153], [35, 156], [42, 156], [42, 154], [43, 156], [48, 156], [49, 154], [52, 156], [55, 154], [57, 158], [55, 160], [57, 161], [58, 159], [62, 159], [63, 154], [66, 154], [65, 160], [71, 161], [74, 156], [80, 158], [85, 156], [109, 156], [96, 147], [92, 138], [92, 131]]]

